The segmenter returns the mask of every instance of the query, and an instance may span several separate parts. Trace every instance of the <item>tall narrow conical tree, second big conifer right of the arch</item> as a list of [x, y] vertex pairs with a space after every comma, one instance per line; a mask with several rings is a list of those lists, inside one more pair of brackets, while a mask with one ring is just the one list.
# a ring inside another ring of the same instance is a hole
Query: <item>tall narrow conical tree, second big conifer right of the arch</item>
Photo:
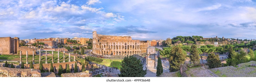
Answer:
[[194, 63], [194, 64], [198, 64], [200, 63], [199, 60], [199, 52], [197, 50], [197, 46], [195, 44], [192, 44], [191, 46], [191, 52], [190, 52], [190, 60]]

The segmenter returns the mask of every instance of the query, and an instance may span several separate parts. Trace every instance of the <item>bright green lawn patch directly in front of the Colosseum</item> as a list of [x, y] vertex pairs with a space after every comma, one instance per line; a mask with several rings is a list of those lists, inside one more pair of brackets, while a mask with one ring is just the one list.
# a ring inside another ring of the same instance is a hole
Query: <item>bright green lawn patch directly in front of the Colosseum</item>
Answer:
[[106, 65], [106, 66], [108, 66], [108, 67], [117, 67], [118, 69], [120, 69], [121, 68], [121, 61], [122, 60], [111, 60], [111, 59], [103, 59], [103, 61], [101, 62], [101, 63], [98, 63], [98, 62], [94, 62], [94, 63], [97, 63], [97, 64], [101, 64], [101, 65]]

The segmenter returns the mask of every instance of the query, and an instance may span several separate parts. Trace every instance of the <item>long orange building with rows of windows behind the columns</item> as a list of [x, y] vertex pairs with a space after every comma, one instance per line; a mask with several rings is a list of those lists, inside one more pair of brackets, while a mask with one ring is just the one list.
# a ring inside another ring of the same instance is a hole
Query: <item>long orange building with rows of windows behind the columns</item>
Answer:
[[44, 48], [54, 48], [54, 47], [56, 47], [56, 42], [55, 41], [53, 41], [53, 39], [36, 39], [36, 41], [34, 41], [34, 43], [35, 42], [43, 42], [44, 43]]

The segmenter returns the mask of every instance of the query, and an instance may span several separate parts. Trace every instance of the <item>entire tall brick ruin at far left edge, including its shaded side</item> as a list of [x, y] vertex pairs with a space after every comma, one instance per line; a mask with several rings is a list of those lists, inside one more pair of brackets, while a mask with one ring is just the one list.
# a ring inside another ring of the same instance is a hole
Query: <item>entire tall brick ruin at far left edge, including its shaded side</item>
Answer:
[[17, 54], [19, 42], [18, 37], [0, 37], [0, 54]]

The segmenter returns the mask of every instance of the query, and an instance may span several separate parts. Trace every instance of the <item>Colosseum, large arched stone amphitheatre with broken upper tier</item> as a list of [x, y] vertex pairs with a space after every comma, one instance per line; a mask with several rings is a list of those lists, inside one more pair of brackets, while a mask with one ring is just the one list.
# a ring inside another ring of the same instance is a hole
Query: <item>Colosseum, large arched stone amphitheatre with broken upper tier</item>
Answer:
[[92, 54], [134, 55], [146, 53], [148, 41], [132, 40], [131, 36], [107, 36], [92, 32]]

